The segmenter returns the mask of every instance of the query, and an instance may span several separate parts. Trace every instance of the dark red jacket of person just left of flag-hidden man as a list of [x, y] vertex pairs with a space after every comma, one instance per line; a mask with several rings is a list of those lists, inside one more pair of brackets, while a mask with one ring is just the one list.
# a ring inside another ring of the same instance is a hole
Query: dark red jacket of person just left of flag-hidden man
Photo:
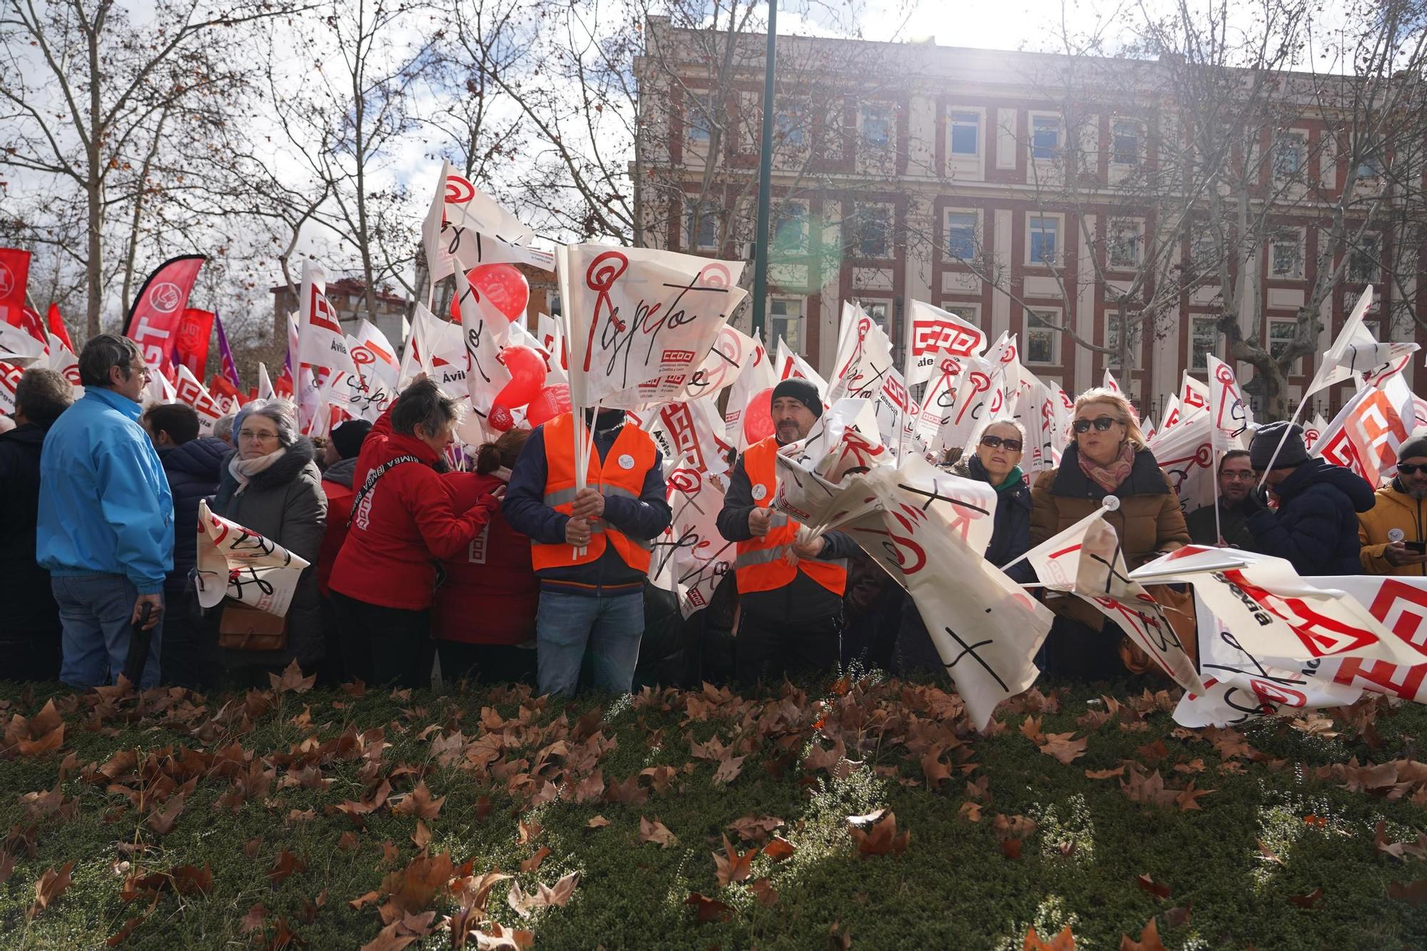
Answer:
[[[472, 505], [505, 484], [497, 476], [448, 473], [455, 508]], [[465, 644], [524, 644], [535, 637], [539, 581], [531, 540], [497, 513], [455, 558], [444, 561], [445, 583], [431, 605], [431, 635]]]

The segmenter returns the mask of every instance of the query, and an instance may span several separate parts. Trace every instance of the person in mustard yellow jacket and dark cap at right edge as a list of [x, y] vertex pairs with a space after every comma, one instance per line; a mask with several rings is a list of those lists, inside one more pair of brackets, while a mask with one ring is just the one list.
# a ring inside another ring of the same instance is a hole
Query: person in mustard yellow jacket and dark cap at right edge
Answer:
[[1427, 436], [1397, 448], [1397, 476], [1373, 497], [1373, 507], [1357, 517], [1361, 570], [1427, 577]]

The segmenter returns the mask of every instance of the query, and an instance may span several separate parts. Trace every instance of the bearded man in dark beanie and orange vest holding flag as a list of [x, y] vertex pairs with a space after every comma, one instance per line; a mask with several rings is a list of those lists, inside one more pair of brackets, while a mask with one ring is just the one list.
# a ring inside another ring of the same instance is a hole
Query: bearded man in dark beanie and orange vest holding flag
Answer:
[[769, 507], [778, 491], [778, 447], [806, 437], [822, 416], [818, 388], [783, 380], [773, 387], [771, 416], [773, 436], [749, 446], [733, 464], [718, 514], [719, 534], [738, 544], [733, 665], [745, 685], [838, 665], [846, 558], [858, 550], [841, 531], [799, 541], [798, 523]]

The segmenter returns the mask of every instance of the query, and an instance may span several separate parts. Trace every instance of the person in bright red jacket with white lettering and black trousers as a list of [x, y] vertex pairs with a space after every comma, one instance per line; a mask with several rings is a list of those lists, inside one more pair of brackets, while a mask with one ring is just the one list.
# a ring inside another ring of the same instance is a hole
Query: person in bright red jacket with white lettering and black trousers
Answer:
[[465, 551], [501, 504], [487, 494], [458, 508], [437, 473], [458, 410], [417, 377], [357, 456], [351, 525], [330, 584], [347, 674], [368, 684], [431, 685], [435, 561]]

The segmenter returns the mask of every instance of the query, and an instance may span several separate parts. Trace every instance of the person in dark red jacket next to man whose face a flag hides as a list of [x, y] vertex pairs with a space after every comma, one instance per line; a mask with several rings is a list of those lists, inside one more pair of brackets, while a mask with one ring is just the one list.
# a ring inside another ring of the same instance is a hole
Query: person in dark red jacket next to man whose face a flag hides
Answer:
[[[448, 473], [459, 511], [487, 495], [501, 495], [529, 430], [511, 430], [481, 447], [474, 473]], [[535, 685], [535, 607], [539, 584], [531, 565], [531, 540], [495, 513], [467, 551], [447, 558], [447, 580], [431, 605], [442, 678]]]

